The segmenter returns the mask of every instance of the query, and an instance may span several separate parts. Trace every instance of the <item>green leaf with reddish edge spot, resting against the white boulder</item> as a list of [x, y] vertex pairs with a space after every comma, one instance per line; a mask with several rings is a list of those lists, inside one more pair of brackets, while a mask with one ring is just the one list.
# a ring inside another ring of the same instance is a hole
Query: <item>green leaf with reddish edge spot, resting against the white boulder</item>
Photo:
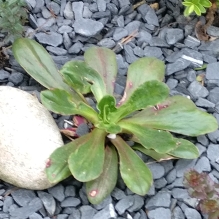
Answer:
[[58, 183], [71, 175], [68, 158], [86, 140], [82, 136], [75, 141], [57, 148], [49, 157], [46, 164], [46, 175], [50, 182]]

